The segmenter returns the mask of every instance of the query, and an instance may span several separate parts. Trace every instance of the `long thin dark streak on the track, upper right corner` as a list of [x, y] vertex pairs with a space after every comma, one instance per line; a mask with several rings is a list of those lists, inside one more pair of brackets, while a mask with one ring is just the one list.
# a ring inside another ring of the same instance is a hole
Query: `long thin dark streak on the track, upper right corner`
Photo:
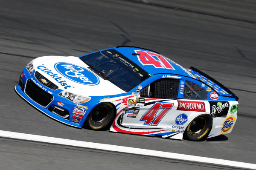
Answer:
[[145, 3], [145, 2], [137, 1], [137, 0], [126, 0], [126, 1], [134, 2], [134, 3], [147, 4], [147, 5], [157, 6], [157, 7], [161, 7], [161, 8], [175, 9], [175, 10], [180, 10], [180, 11], [185, 11], [185, 12], [191, 12], [191, 13], [195, 13], [195, 14], [208, 15], [208, 16], [212, 16], [212, 17], [219, 17], [219, 18], [227, 19], [227, 20], [236, 20], [236, 21], [241, 21], [241, 22], [245, 22], [245, 23], [252, 23], [252, 24], [256, 23], [256, 22], [250, 21], [250, 20], [243, 20], [243, 19], [233, 18], [233, 17], [225, 17], [225, 16], [222, 16], [222, 15], [210, 14], [210, 13], [199, 12], [199, 11], [193, 11], [193, 10], [190, 10], [190, 9], [178, 8], [178, 7], [174, 7], [174, 6], [166, 6], [166, 5], [161, 5], [161, 4], [157, 4], [157, 3]]

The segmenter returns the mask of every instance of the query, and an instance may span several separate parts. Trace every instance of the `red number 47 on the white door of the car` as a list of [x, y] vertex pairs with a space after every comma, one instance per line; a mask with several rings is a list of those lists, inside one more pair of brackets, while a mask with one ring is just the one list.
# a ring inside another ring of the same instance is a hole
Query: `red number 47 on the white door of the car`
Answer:
[[[147, 112], [145, 112], [140, 121], [145, 121], [144, 125], [157, 126], [162, 120], [163, 116], [165, 116], [166, 113], [172, 109], [172, 106], [173, 103], [155, 102], [155, 104], [150, 109], [148, 109]], [[156, 113], [159, 111], [159, 109], [163, 109], [163, 111], [156, 116]]]

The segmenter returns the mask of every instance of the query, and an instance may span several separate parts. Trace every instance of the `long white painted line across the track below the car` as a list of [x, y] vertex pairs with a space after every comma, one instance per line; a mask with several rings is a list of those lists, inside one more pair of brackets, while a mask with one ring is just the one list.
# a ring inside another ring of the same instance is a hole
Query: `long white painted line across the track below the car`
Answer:
[[84, 147], [84, 148], [92, 148], [92, 149], [99, 149], [99, 150], [109, 150], [114, 152], [131, 153], [131, 154], [138, 154], [138, 155], [145, 155], [145, 156], [157, 156], [162, 158], [171, 158], [171, 159], [178, 159], [178, 160], [184, 160], [184, 161], [195, 161], [195, 162], [201, 162], [201, 163], [218, 164], [218, 165], [248, 168], [248, 169], [256, 170], [256, 164], [250, 164], [250, 163], [244, 163], [244, 162], [238, 162], [238, 161], [207, 158], [202, 156], [191, 156], [191, 155], [184, 155], [179, 153], [162, 152], [157, 150], [146, 150], [146, 149], [140, 149], [140, 148], [134, 148], [134, 147], [122, 147], [122, 146], [116, 146], [111, 144], [99, 144], [99, 143], [86, 142], [86, 141], [75, 141], [70, 139], [53, 138], [48, 136], [31, 135], [26, 133], [16, 133], [16, 132], [9, 132], [9, 131], [3, 131], [3, 130], [0, 130], [0, 137], [21, 139], [21, 140], [27, 140], [27, 141], [46, 142], [50, 144], [62, 144], [62, 145], [68, 145], [68, 146], [74, 146], [74, 147]]

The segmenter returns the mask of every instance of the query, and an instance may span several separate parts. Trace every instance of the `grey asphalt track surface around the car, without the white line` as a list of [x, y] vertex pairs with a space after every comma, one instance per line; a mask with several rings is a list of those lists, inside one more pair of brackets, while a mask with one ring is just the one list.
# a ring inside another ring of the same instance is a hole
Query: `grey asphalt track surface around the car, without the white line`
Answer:
[[[0, 0], [0, 130], [256, 163], [256, 2], [253, 0]], [[33, 58], [119, 45], [194, 66], [239, 96], [232, 133], [177, 141], [77, 129], [38, 112], [14, 90]], [[0, 169], [233, 169], [0, 138]]]

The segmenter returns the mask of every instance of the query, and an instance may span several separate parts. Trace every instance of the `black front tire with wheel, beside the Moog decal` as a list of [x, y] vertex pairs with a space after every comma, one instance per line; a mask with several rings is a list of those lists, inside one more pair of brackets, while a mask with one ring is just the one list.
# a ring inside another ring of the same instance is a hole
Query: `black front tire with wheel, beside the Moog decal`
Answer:
[[91, 130], [107, 130], [114, 121], [116, 112], [113, 104], [103, 103], [93, 108], [86, 118], [85, 124]]

